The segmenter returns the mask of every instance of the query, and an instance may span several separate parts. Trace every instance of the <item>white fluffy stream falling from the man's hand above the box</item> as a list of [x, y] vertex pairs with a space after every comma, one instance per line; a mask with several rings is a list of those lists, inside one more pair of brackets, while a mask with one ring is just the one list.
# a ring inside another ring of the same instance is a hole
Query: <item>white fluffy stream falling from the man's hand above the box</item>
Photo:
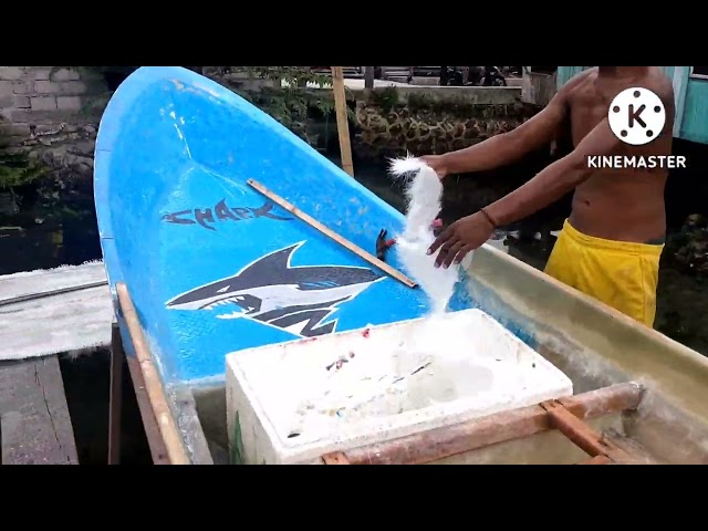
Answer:
[[406, 227], [396, 239], [396, 252], [406, 273], [428, 295], [433, 313], [442, 313], [459, 278], [459, 266], [436, 268], [437, 252], [427, 254], [435, 241], [431, 225], [440, 212], [442, 183], [424, 160], [410, 156], [392, 160], [391, 174], [407, 183]]

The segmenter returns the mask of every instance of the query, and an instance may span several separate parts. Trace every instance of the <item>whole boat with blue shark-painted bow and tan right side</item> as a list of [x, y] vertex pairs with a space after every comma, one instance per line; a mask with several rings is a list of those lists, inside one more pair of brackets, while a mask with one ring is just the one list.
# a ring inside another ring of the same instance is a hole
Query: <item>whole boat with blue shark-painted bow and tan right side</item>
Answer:
[[[162, 379], [156, 386], [163, 389], [150, 393], [157, 378], [145, 367], [152, 363], [140, 363], [155, 414], [146, 433], [159, 430], [167, 462], [230, 462], [228, 353], [429, 310], [420, 289], [316, 230], [252, 181], [365, 250], [373, 250], [382, 228], [394, 235], [404, 222], [287, 128], [194, 72], [143, 67], [116, 91], [96, 143], [96, 211], [124, 346], [138, 358], [149, 350]], [[389, 264], [402, 269], [395, 253]], [[649, 405], [622, 423], [624, 436], [660, 462], [708, 462], [702, 355], [489, 244], [476, 251], [450, 303], [450, 310], [470, 306], [552, 361], [576, 393], [592, 389], [576, 397], [581, 405], [586, 400], [585, 417], [633, 410], [644, 391], [631, 382], [648, 382]], [[138, 345], [143, 339], [147, 345]], [[478, 428], [491, 420], [504, 428], [497, 441], [506, 442], [481, 448], [483, 462], [571, 464], [582, 457], [563, 440], [514, 441], [519, 434], [491, 417]], [[456, 437], [455, 445], [434, 447], [461, 451]]]

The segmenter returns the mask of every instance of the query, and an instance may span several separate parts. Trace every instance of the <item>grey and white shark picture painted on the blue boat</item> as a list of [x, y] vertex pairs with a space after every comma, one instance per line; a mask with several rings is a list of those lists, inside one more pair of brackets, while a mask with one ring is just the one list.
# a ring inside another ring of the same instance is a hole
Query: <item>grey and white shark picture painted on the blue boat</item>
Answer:
[[[167, 301], [171, 310], [228, 310], [220, 319], [248, 317], [303, 337], [334, 332], [323, 323], [337, 304], [350, 301], [385, 275], [351, 266], [299, 266], [290, 261], [304, 241], [273, 251], [233, 277], [196, 288]], [[236, 308], [235, 308], [236, 306]]]

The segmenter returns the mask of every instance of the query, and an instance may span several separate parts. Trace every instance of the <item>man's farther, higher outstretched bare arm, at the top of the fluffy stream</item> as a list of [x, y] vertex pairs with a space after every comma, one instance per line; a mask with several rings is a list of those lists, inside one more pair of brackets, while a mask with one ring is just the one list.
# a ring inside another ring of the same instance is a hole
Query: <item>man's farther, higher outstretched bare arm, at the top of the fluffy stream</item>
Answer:
[[445, 168], [445, 173], [462, 174], [493, 169], [511, 164], [544, 144], [550, 144], [558, 136], [568, 116], [570, 91], [589, 74], [590, 71], [581, 72], [570, 80], [543, 111], [513, 131], [440, 156], [439, 164]]

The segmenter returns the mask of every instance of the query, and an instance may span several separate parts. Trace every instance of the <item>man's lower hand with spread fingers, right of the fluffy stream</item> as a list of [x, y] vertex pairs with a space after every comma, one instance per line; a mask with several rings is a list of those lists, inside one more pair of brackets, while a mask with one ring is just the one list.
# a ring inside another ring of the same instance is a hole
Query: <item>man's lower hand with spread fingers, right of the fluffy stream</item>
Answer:
[[433, 254], [440, 252], [435, 259], [435, 267], [449, 268], [452, 261], [460, 263], [469, 251], [485, 243], [494, 232], [494, 226], [481, 212], [459, 219], [442, 231], [428, 249]]

